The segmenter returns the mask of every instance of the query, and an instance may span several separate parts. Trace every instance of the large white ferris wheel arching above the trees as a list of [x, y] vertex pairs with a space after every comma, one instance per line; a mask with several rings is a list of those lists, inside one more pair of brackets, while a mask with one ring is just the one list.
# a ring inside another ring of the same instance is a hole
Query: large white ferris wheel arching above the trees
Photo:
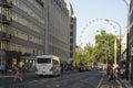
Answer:
[[85, 45], [89, 44], [89, 42], [86, 43], [84, 41], [89, 41], [90, 38], [94, 40], [94, 35], [90, 36], [90, 37], [86, 37], [86, 35], [91, 35], [92, 32], [94, 31], [94, 30], [92, 30], [92, 28], [98, 26], [98, 24], [106, 25], [108, 29], [111, 29], [110, 31], [112, 31], [111, 33], [113, 33], [114, 35], [116, 35], [116, 32], [117, 32], [116, 30], [119, 29], [120, 30], [119, 35], [121, 36], [121, 25], [117, 22], [115, 22], [113, 20], [108, 20], [108, 19], [95, 19], [95, 20], [92, 20], [89, 23], [86, 23], [86, 25], [81, 31], [79, 46], [84, 47]]

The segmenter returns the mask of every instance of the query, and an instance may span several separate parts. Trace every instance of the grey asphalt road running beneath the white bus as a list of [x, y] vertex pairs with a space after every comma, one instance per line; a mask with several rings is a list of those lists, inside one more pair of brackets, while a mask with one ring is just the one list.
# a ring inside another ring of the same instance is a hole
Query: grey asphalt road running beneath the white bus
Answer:
[[[13, 78], [1, 78], [0, 88], [117, 88], [113, 80], [106, 82], [103, 72], [66, 72], [60, 77], [38, 77], [35, 74], [25, 74], [23, 81], [13, 81]], [[114, 86], [113, 86], [114, 85]]]

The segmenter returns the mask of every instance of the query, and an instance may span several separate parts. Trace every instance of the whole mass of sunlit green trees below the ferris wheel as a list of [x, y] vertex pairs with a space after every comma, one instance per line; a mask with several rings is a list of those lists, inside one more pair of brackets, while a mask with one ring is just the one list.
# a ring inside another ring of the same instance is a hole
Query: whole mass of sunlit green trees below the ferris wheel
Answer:
[[95, 35], [95, 46], [86, 45], [83, 50], [75, 52], [75, 63], [90, 64], [90, 63], [106, 63], [114, 59], [114, 41], [116, 40], [117, 56], [120, 51], [120, 40], [111, 33], [106, 33], [104, 30], [100, 34]]

